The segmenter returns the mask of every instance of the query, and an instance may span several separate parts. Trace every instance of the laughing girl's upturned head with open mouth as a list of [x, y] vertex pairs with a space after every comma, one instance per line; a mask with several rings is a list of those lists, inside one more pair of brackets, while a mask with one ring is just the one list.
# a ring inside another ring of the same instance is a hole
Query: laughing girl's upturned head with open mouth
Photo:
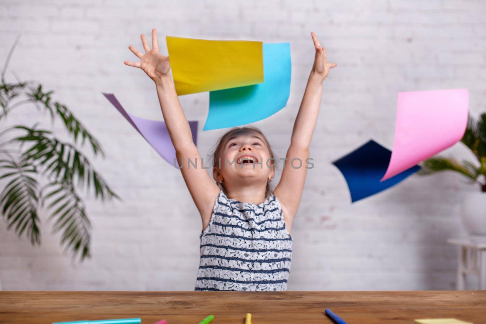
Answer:
[[219, 151], [221, 167], [215, 157], [214, 179], [223, 179], [226, 186], [255, 182], [266, 185], [275, 175], [275, 163], [270, 157], [268, 145], [259, 132], [234, 131], [223, 138]]

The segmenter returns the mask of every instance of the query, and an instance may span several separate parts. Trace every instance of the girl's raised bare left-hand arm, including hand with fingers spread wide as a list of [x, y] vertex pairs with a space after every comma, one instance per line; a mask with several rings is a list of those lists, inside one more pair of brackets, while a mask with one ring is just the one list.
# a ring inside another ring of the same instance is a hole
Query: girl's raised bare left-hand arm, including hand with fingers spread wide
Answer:
[[[186, 119], [186, 115], [184, 115], [179, 98], [175, 92], [174, 83], [169, 74], [169, 70], [171, 69], [169, 56], [164, 56], [158, 51], [156, 30], [152, 30], [152, 50], [145, 35], [142, 34], [140, 37], [145, 54], [142, 54], [130, 45], [128, 48], [140, 58], [140, 62], [125, 61], [125, 64], [141, 68], [156, 84], [160, 108], [162, 109], [162, 115], [172, 143], [174, 144], [177, 162], [179, 167], [182, 165], [182, 176], [201, 214], [203, 228], [206, 228], [211, 217], [214, 201], [220, 189], [212, 181], [206, 169], [202, 168], [201, 155], [192, 141], [189, 122]], [[196, 164], [196, 167], [192, 164], [189, 165], [189, 160]]]

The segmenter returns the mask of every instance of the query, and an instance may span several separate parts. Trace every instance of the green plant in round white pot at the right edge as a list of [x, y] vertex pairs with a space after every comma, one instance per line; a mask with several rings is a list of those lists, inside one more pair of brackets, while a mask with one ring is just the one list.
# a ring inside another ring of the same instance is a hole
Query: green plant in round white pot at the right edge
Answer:
[[471, 185], [478, 185], [478, 192], [465, 195], [461, 205], [461, 220], [472, 239], [486, 240], [486, 113], [478, 120], [469, 116], [466, 132], [461, 139], [477, 161], [462, 162], [454, 158], [434, 156], [422, 163], [418, 174], [438, 171], [456, 171], [465, 176]]

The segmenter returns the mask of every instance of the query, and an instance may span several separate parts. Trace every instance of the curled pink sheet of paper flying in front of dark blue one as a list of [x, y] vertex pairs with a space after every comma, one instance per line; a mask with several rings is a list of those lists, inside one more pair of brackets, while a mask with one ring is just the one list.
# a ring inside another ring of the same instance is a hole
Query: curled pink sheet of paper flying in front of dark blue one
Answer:
[[459, 141], [468, 122], [468, 89], [399, 92], [387, 180]]

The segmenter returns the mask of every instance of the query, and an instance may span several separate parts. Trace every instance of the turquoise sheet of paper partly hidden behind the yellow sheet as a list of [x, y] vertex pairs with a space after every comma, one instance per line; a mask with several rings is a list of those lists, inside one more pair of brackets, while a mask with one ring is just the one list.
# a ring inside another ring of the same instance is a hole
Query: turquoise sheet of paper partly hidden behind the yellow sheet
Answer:
[[265, 82], [211, 91], [203, 130], [245, 125], [278, 112], [289, 99], [291, 68], [290, 43], [263, 44]]

